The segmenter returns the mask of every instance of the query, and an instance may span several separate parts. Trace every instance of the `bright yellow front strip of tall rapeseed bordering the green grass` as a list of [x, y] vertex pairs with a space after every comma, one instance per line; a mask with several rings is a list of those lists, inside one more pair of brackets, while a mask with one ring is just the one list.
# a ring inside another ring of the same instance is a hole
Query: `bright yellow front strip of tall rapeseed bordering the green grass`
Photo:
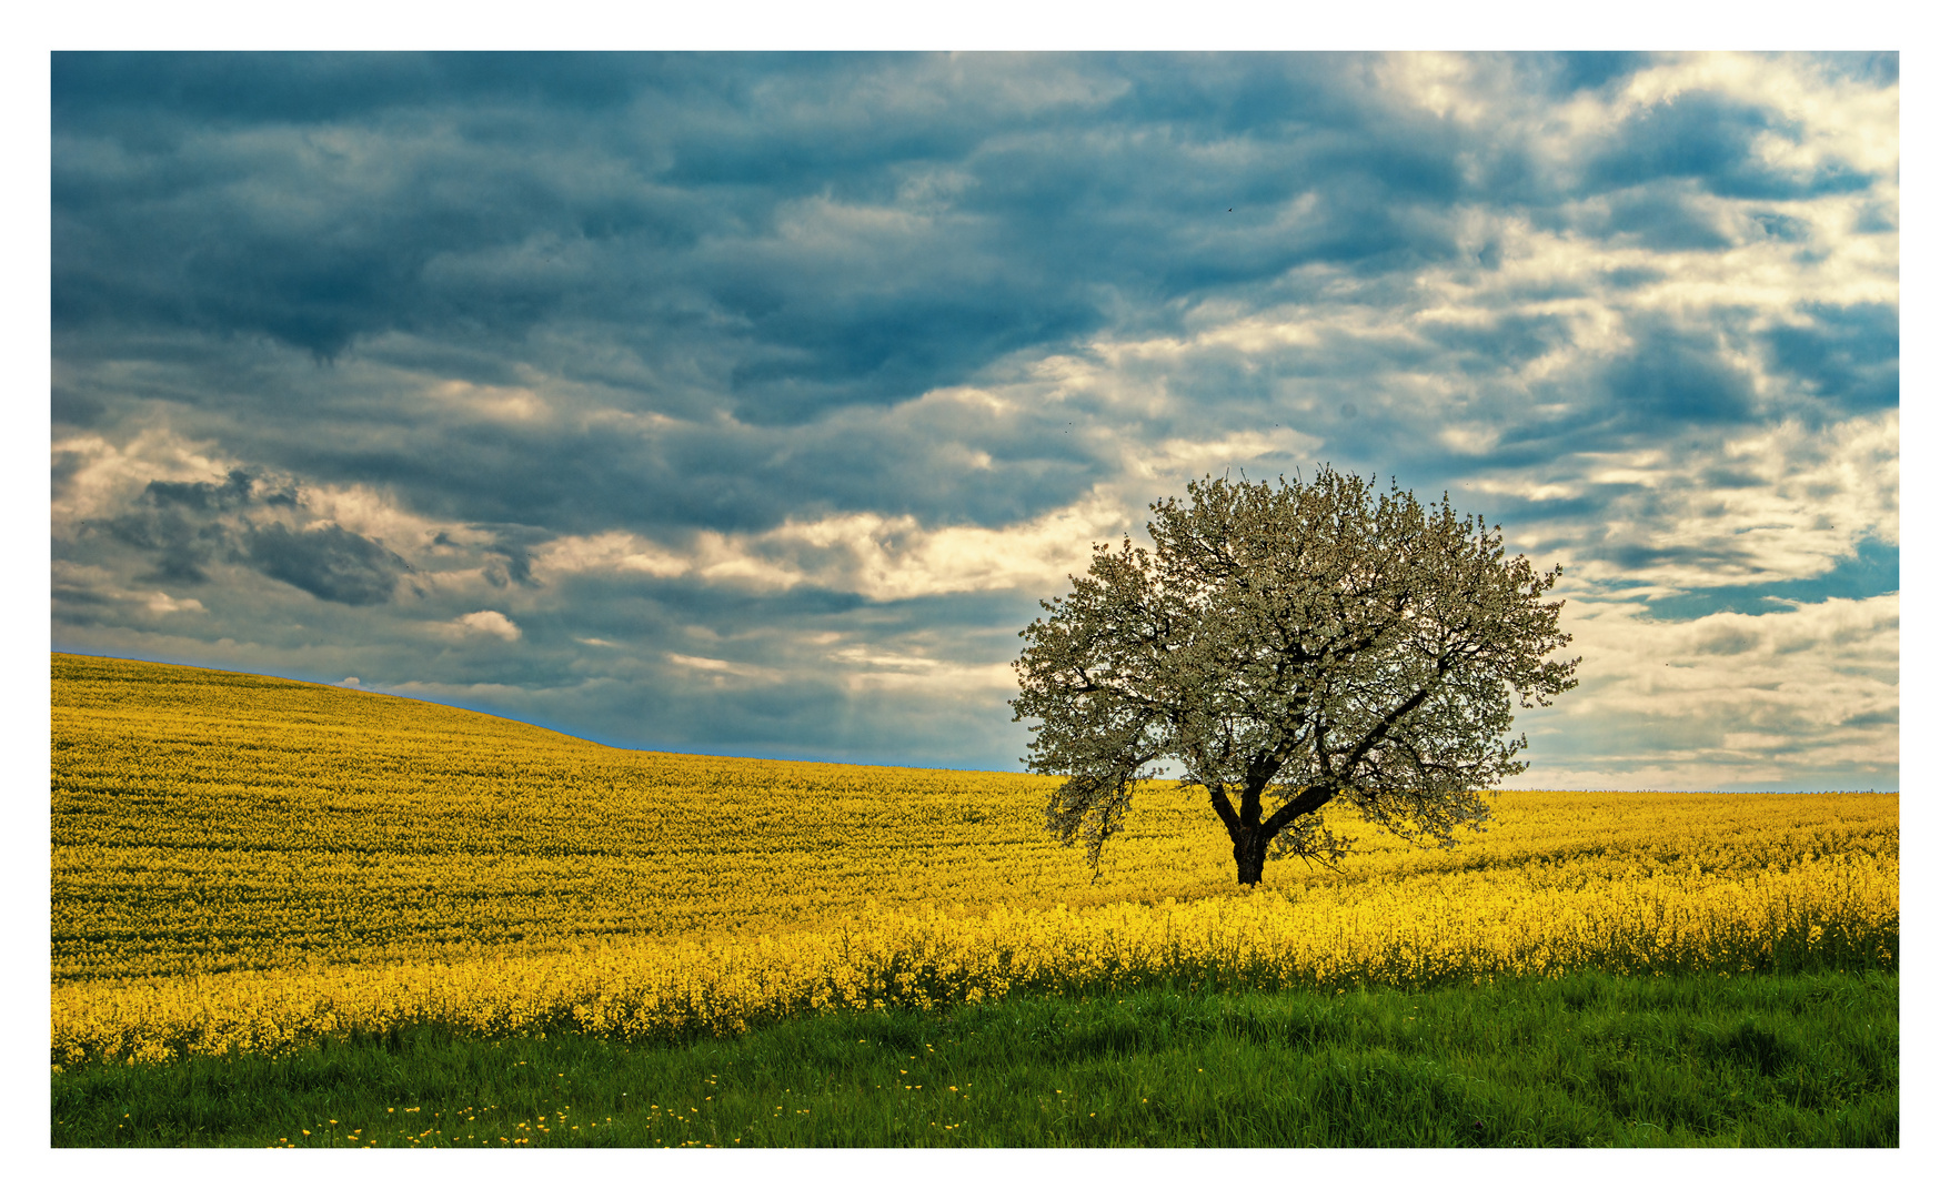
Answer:
[[1589, 967], [1737, 973], [1899, 961], [1897, 864], [1886, 858], [1745, 879], [1675, 870], [1535, 887], [1507, 875], [1420, 875], [1301, 899], [1260, 891], [1086, 909], [922, 907], [778, 936], [68, 983], [53, 994], [53, 1059], [281, 1053], [410, 1025], [493, 1037], [729, 1033], [829, 1008], [934, 1008], [1024, 988], [1344, 990]]

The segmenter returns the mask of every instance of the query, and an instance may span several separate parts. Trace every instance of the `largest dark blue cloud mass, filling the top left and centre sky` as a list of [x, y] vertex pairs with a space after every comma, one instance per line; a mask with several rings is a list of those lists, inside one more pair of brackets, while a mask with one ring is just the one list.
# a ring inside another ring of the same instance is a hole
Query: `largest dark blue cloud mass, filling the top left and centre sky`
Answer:
[[[626, 58], [562, 97], [554, 58], [526, 86], [491, 78], [523, 60], [417, 62], [62, 57], [57, 328], [263, 333], [332, 359], [386, 331], [587, 322], [649, 357], [681, 339], [741, 419], [801, 421], [1078, 335], [1113, 294], [1453, 250], [1427, 209], [1459, 195], [1457, 138], [1349, 101], [1355, 58], [1061, 60], [1074, 103], [926, 119], [901, 101], [1034, 80], [1004, 58], [948, 78], [924, 58]], [[1065, 117], [1086, 113], [1078, 138]], [[909, 203], [915, 220], [829, 211], [936, 183], [946, 211]], [[1303, 193], [1308, 218], [1269, 230]], [[825, 226], [794, 236], [807, 222]]]

